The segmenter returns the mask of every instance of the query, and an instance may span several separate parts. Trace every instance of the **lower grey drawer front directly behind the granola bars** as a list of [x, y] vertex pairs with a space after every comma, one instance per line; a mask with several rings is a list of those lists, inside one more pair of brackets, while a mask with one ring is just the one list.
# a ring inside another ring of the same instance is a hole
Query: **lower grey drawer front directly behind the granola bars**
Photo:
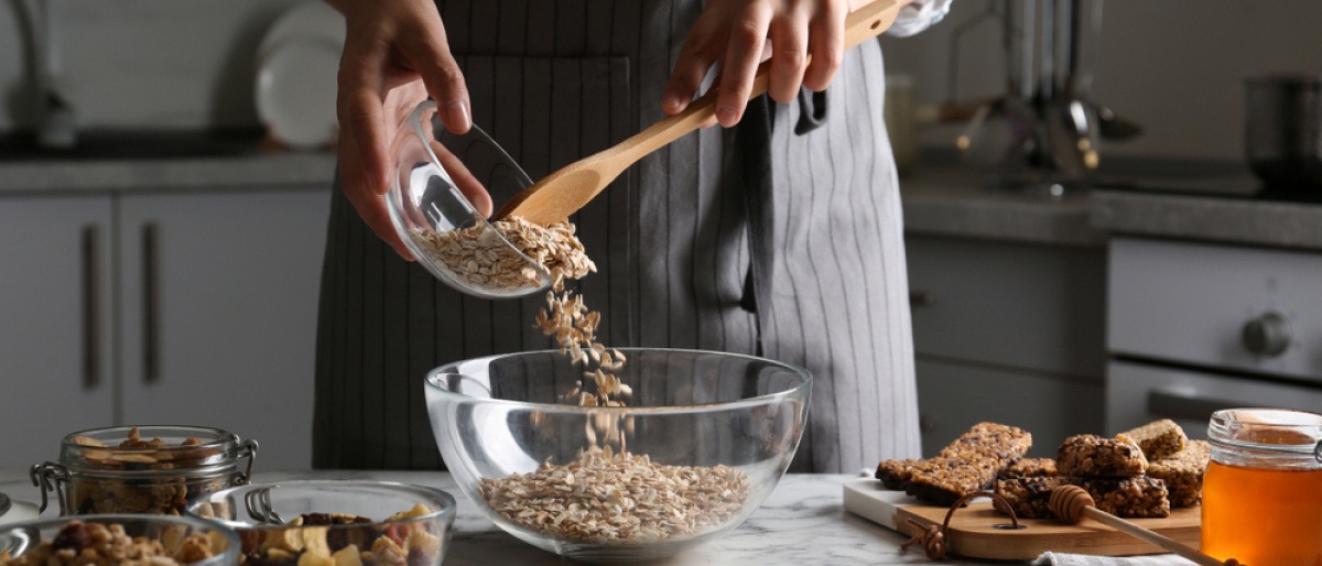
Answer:
[[1039, 458], [1055, 458], [1069, 435], [1103, 434], [1103, 385], [1091, 381], [919, 356], [917, 403], [928, 458], [982, 421], [1031, 432]]

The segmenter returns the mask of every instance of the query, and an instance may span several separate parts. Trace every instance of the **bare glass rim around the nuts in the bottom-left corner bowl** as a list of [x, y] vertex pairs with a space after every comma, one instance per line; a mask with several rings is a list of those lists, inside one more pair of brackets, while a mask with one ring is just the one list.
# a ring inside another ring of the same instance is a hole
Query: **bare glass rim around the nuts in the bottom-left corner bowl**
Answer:
[[188, 566], [237, 566], [239, 563], [239, 537], [212, 521], [194, 517], [175, 517], [165, 514], [85, 514], [38, 521], [15, 522], [0, 528], [0, 554], [21, 557], [38, 547], [42, 541], [56, 541], [56, 537], [71, 521], [85, 524], [120, 525], [130, 537], [155, 538], [167, 553], [173, 554], [185, 537], [201, 533], [210, 542], [212, 557], [188, 562]]

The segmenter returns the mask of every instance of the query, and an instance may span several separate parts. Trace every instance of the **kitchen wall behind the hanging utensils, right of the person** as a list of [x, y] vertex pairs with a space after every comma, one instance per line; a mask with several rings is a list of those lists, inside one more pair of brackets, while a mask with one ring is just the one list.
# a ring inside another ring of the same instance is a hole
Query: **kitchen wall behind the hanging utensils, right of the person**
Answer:
[[[956, 26], [999, 1], [956, 0], [945, 21], [911, 38], [883, 40], [887, 70], [915, 77], [924, 102], [945, 101]], [[1243, 156], [1245, 77], [1322, 74], [1322, 1], [1110, 0], [1103, 7], [1101, 61], [1092, 99], [1144, 126], [1142, 138], [1103, 156]], [[956, 61], [958, 99], [1003, 91], [1001, 25], [965, 32]], [[924, 145], [953, 147], [957, 128], [931, 128]]]

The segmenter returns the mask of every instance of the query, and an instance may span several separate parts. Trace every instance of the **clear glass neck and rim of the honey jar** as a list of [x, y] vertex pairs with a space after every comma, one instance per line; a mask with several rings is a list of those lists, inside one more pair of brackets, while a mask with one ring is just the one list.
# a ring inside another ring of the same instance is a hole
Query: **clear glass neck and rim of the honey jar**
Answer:
[[1212, 444], [1322, 460], [1322, 414], [1289, 409], [1225, 409], [1207, 426]]

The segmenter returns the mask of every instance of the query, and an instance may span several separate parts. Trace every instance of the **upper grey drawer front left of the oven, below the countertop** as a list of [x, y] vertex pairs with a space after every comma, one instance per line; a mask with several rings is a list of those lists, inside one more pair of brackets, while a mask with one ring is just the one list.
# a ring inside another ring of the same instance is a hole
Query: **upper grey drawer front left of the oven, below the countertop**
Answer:
[[906, 239], [920, 354], [1095, 378], [1105, 368], [1105, 250]]

